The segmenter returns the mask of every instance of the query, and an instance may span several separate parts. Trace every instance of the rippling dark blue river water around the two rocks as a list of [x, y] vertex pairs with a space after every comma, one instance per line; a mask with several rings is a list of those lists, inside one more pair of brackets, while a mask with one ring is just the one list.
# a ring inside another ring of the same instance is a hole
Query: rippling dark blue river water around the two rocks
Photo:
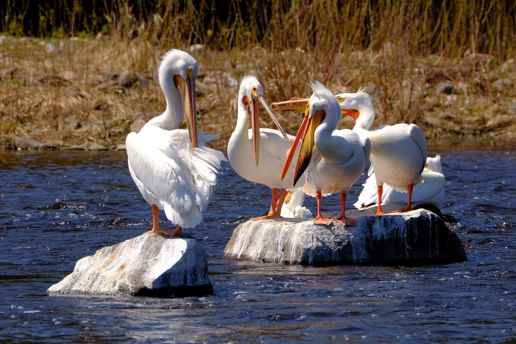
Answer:
[[[0, 340], [18, 342], [514, 342], [516, 151], [442, 152], [450, 228], [468, 261], [301, 267], [222, 259], [270, 191], [224, 165], [195, 230], [215, 294], [49, 296], [75, 262], [150, 229], [125, 152], [0, 152]], [[363, 181], [365, 176], [361, 179]], [[357, 199], [357, 185], [348, 206]], [[324, 199], [338, 209], [338, 196]], [[305, 205], [315, 209], [315, 201]], [[160, 227], [173, 229], [164, 215]]]

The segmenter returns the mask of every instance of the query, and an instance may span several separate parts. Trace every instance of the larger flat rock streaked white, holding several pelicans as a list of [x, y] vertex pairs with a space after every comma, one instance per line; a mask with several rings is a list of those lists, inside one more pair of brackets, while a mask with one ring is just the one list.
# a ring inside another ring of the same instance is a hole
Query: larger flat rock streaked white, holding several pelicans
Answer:
[[[350, 212], [356, 215], [357, 212]], [[431, 211], [355, 217], [357, 226], [273, 219], [240, 224], [224, 257], [302, 265], [416, 266], [467, 260], [459, 237]]]

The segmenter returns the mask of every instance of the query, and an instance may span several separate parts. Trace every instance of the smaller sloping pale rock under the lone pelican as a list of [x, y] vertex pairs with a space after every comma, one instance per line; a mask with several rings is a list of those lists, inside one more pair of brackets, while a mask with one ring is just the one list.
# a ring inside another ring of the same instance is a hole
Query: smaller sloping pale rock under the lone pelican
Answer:
[[184, 234], [144, 234], [79, 259], [47, 292], [199, 296], [213, 293], [204, 248]]

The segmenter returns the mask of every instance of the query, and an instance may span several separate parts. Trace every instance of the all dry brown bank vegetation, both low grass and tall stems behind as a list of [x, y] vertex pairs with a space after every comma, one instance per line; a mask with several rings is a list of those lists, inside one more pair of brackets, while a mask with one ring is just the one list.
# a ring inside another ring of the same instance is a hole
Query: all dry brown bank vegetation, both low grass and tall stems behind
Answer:
[[[269, 103], [309, 96], [310, 80], [334, 93], [366, 88], [374, 125], [416, 123], [434, 147], [516, 142], [513, 3], [252, 1], [243, 9], [230, 1], [227, 18], [212, 22], [192, 4], [212, 8], [193, 1], [140, 18], [125, 4], [106, 12], [108, 35], [0, 37], [0, 145], [12, 148], [15, 137], [62, 147], [123, 143], [164, 110], [156, 73], [171, 47], [192, 49], [199, 62], [200, 129], [220, 133], [213, 145], [222, 151], [248, 74]], [[280, 116], [291, 134], [300, 120]]]

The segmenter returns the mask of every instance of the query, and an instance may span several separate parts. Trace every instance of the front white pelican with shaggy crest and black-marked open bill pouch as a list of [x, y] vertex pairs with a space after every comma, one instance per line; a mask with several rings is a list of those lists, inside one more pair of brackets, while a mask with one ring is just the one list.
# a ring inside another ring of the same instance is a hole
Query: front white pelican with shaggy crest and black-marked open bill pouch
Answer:
[[[370, 143], [349, 129], [336, 130], [342, 112], [333, 94], [317, 81], [310, 83], [313, 94], [308, 102], [305, 116], [293, 148], [303, 140], [299, 149], [294, 184], [306, 170], [306, 184], [303, 191], [317, 200], [317, 217], [314, 223], [330, 224], [339, 221], [354, 226], [355, 221], [346, 218], [346, 194], [358, 181], [367, 165]], [[282, 179], [285, 177], [294, 157], [294, 150], [288, 154]], [[292, 179], [291, 179], [292, 180]], [[341, 216], [325, 219], [321, 216], [322, 196], [341, 193]]]

